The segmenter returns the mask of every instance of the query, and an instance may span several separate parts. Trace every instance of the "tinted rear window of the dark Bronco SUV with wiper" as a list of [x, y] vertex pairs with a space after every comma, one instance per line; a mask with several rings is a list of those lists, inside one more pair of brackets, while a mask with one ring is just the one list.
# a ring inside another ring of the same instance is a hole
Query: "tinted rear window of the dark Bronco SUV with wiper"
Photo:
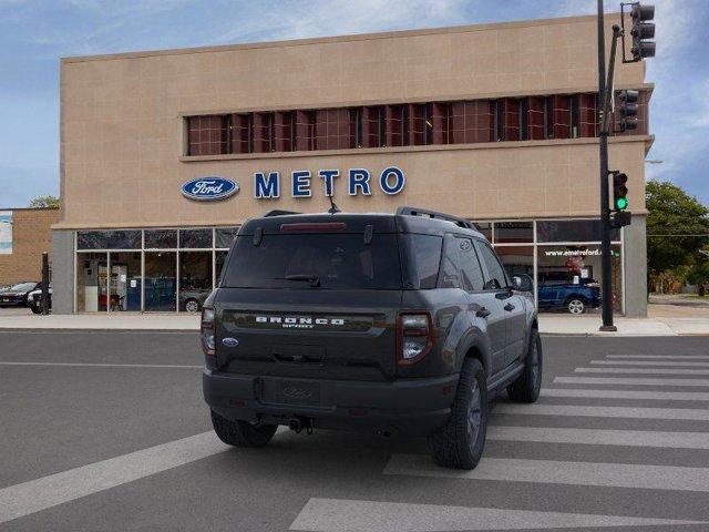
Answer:
[[401, 289], [399, 246], [394, 234], [361, 233], [264, 235], [258, 246], [239, 236], [223, 286], [229, 288], [310, 288], [286, 276], [311, 276], [314, 289]]

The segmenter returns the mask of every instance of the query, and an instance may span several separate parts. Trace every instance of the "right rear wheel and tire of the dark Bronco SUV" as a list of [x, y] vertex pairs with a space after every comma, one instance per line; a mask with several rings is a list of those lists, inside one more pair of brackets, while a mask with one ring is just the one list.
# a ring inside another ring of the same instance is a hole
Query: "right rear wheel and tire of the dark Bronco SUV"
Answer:
[[451, 417], [429, 438], [433, 461], [450, 469], [474, 469], [487, 431], [487, 385], [480, 360], [466, 358], [458, 381]]

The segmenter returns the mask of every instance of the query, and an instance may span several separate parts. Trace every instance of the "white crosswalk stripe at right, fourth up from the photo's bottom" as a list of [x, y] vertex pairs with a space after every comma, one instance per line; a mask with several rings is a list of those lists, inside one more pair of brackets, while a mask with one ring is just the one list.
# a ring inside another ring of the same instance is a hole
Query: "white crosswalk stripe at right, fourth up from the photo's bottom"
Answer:
[[[699, 408], [580, 407], [575, 405], [502, 403], [492, 411], [514, 416], [572, 416], [592, 418], [687, 419], [709, 421], [709, 410]], [[709, 434], [707, 434], [709, 438]]]

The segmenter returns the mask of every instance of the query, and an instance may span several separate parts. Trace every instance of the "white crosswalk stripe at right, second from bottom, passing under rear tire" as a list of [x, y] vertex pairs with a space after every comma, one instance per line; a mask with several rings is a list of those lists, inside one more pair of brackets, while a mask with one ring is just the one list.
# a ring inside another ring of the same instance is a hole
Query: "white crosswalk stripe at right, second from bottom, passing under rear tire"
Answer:
[[384, 474], [709, 492], [709, 469], [485, 458], [472, 471], [440, 468], [425, 454], [392, 454]]

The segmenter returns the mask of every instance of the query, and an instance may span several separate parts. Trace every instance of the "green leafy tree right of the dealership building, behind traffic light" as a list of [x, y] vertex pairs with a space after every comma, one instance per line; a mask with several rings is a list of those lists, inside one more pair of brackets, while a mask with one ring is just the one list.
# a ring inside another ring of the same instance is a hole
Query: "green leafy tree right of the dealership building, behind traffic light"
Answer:
[[692, 266], [709, 235], [709, 208], [679, 186], [649, 181], [645, 190], [648, 272]]

